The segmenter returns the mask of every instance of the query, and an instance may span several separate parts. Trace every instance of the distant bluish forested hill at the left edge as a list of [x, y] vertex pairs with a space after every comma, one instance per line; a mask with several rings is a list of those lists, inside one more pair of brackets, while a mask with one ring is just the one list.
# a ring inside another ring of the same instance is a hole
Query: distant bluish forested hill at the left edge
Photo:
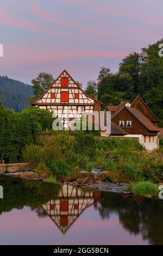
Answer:
[[0, 76], [0, 102], [5, 108], [19, 112], [29, 105], [28, 96], [33, 97], [33, 88], [30, 84]]

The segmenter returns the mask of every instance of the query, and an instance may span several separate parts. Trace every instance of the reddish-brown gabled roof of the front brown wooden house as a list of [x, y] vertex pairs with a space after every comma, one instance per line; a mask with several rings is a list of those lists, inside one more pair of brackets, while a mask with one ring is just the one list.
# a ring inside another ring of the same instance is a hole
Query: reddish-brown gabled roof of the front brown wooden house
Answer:
[[132, 115], [134, 115], [134, 117], [140, 121], [140, 123], [145, 126], [147, 128], [148, 131], [155, 131], [155, 132], [159, 132], [159, 129], [157, 126], [155, 126], [151, 120], [149, 120], [146, 115], [144, 115], [139, 109], [134, 108], [134, 107], [127, 107], [127, 106], [123, 106], [122, 108], [118, 109], [118, 111], [112, 115], [113, 119], [118, 113], [120, 113], [120, 111], [122, 111], [123, 108], [126, 108]]

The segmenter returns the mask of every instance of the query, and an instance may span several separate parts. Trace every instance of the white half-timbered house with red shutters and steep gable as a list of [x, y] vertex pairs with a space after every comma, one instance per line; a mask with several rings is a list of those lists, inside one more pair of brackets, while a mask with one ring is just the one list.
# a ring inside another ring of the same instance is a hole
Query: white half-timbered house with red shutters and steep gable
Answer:
[[100, 112], [102, 104], [87, 95], [66, 70], [33, 102], [33, 106], [56, 113], [64, 121], [65, 127], [74, 118], [81, 118], [83, 112]]

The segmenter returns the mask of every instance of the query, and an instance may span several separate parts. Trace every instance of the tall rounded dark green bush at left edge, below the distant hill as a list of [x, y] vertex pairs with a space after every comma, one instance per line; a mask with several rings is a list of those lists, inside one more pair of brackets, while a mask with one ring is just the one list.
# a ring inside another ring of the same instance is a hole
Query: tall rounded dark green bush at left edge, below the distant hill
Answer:
[[35, 142], [32, 127], [25, 117], [0, 106], [0, 159], [6, 163], [19, 162], [27, 144]]

